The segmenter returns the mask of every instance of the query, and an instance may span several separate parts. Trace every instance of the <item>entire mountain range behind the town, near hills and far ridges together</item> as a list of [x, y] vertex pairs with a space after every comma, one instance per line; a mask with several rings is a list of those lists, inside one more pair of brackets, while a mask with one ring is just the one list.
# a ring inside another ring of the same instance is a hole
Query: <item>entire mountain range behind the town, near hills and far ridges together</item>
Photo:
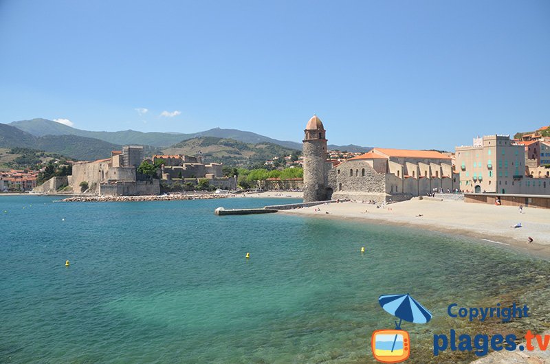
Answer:
[[[74, 159], [91, 160], [107, 158], [111, 150], [120, 150], [122, 146], [131, 144], [144, 146], [145, 155], [161, 152], [195, 154], [204, 149], [206, 160], [221, 159], [224, 163], [260, 161], [302, 149], [302, 144], [294, 141], [272, 139], [236, 129], [213, 128], [184, 134], [135, 130], [89, 131], [45, 119], [0, 124], [0, 148], [33, 148]], [[329, 145], [329, 149], [366, 152], [371, 148]]]

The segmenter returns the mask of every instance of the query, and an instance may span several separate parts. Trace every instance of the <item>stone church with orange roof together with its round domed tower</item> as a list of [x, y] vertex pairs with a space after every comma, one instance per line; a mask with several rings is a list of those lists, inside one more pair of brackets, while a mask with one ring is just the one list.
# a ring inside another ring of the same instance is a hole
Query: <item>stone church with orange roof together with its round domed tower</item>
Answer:
[[404, 201], [433, 190], [459, 189], [452, 157], [441, 152], [373, 148], [332, 166], [327, 163], [326, 130], [319, 117], [311, 117], [304, 131], [304, 202]]

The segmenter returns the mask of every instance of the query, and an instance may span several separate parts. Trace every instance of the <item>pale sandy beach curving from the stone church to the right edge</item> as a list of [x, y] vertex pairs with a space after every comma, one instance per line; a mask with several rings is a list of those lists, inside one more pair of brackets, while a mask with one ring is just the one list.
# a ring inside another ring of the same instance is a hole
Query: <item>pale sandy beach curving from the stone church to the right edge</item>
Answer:
[[[320, 208], [320, 212], [316, 209]], [[327, 212], [329, 214], [327, 214]], [[320, 218], [351, 218], [371, 223], [410, 226], [478, 238], [480, 242], [513, 247], [550, 259], [550, 210], [429, 201], [418, 198], [377, 208], [368, 203], [344, 202], [281, 211]], [[420, 215], [420, 216], [419, 216]], [[522, 227], [514, 228], [521, 223]], [[528, 237], [533, 238], [531, 244]]]

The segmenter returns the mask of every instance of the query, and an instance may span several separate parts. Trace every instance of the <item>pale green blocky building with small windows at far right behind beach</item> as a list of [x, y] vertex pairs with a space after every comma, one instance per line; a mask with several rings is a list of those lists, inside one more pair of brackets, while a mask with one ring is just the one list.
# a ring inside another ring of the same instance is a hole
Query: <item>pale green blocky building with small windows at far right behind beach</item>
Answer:
[[535, 179], [526, 173], [527, 163], [537, 165], [536, 158], [529, 158], [534, 155], [526, 153], [528, 147], [511, 140], [509, 135], [477, 137], [472, 146], [457, 146], [460, 189], [470, 193], [550, 194], [547, 176]]

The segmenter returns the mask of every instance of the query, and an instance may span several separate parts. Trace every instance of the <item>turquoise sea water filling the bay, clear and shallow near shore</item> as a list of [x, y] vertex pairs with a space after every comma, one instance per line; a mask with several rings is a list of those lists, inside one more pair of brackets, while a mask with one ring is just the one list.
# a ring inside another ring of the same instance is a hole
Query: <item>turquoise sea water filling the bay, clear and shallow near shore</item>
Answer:
[[292, 200], [54, 199], [0, 197], [0, 362], [370, 363], [371, 332], [393, 328], [377, 297], [391, 293], [434, 313], [427, 325], [404, 323], [412, 363], [433, 360], [432, 334], [471, 329], [448, 319], [452, 302], [527, 303], [533, 318], [500, 332], [549, 317], [550, 264], [503, 247], [358, 222], [213, 214]]

